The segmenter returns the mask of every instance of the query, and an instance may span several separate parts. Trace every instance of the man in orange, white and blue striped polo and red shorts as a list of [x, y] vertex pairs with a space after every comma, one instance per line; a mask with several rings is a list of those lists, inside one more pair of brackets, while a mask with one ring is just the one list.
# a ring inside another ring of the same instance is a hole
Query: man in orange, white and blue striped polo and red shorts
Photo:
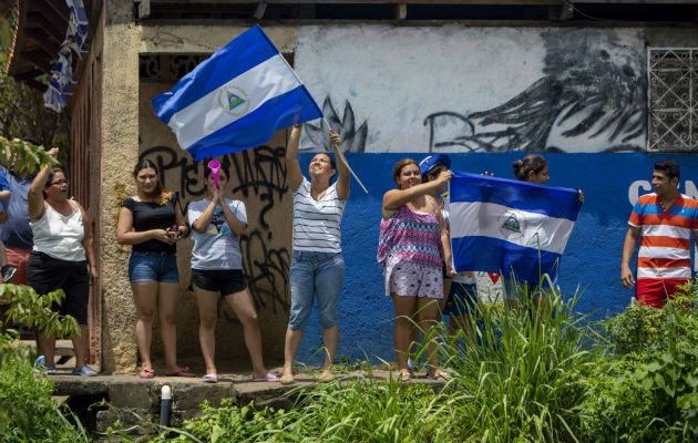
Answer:
[[628, 220], [623, 245], [620, 281], [630, 289], [635, 278], [630, 258], [637, 254], [637, 301], [661, 308], [674, 298], [677, 286], [691, 278], [690, 235], [698, 229], [698, 202], [679, 194], [679, 166], [673, 159], [655, 163], [653, 194], [640, 196]]

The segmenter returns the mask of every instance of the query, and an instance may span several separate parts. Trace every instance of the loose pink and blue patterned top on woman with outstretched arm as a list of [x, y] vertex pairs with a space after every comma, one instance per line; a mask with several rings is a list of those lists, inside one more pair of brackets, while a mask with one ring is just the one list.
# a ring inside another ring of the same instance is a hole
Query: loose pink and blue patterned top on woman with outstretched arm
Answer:
[[384, 266], [391, 256], [441, 268], [441, 226], [437, 215], [417, 213], [403, 205], [390, 218], [381, 220], [378, 264]]

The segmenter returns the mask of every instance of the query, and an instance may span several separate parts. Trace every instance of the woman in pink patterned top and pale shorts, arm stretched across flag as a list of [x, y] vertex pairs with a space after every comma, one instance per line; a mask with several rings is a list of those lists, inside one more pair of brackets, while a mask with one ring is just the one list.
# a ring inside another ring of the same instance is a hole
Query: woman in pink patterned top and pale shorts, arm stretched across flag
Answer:
[[[383, 268], [386, 296], [392, 297], [396, 310], [393, 340], [398, 354], [397, 375], [401, 381], [409, 381], [411, 377], [408, 357], [414, 321], [424, 334], [439, 322], [437, 300], [443, 298], [444, 261], [445, 274], [451, 277], [455, 274], [449, 231], [439, 205], [429, 196], [443, 188], [452, 176], [452, 172], [444, 169], [434, 181], [422, 183], [419, 164], [403, 158], [392, 172], [397, 189], [383, 195], [377, 258]], [[427, 347], [433, 378], [449, 379], [446, 372], [438, 369], [434, 339], [432, 336]]]

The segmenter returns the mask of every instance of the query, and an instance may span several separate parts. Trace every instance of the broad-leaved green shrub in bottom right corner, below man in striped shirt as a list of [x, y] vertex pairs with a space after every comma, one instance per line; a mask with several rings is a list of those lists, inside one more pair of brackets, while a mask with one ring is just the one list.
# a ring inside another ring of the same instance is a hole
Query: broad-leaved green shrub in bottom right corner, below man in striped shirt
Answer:
[[610, 350], [583, 405], [596, 441], [698, 440], [696, 287], [663, 309], [632, 305], [605, 322]]

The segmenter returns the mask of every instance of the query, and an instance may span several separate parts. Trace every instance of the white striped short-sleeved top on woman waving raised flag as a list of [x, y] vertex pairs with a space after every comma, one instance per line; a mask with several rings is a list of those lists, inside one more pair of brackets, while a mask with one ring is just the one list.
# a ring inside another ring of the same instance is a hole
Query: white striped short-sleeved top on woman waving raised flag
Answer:
[[294, 193], [294, 250], [341, 253], [341, 217], [346, 200], [337, 196], [336, 183], [319, 200], [310, 194], [310, 182]]

